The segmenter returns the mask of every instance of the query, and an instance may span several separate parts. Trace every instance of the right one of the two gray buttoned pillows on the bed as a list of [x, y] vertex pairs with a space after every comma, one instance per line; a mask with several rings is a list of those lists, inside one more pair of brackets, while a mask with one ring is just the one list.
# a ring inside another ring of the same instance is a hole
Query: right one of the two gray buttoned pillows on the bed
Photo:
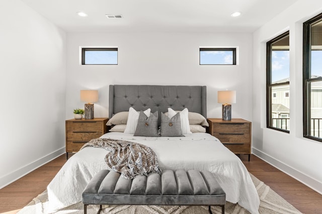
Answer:
[[160, 135], [162, 137], [184, 137], [181, 129], [180, 113], [177, 113], [171, 119], [164, 113], [161, 113]]

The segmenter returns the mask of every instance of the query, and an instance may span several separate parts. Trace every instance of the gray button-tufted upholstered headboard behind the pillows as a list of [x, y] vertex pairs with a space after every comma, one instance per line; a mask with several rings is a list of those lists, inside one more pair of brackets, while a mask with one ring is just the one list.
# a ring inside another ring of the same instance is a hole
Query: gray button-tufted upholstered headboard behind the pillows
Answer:
[[118, 112], [168, 108], [197, 112], [207, 118], [206, 86], [110, 85], [109, 118]]

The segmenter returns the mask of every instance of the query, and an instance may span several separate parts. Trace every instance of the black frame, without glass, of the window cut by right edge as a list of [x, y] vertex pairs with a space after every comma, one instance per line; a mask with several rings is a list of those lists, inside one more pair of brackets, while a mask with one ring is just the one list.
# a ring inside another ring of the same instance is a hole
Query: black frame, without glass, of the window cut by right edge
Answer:
[[311, 25], [322, 21], [322, 13], [303, 23], [303, 137], [322, 142], [321, 138], [309, 135], [311, 121], [310, 83], [322, 81], [322, 77], [311, 78]]

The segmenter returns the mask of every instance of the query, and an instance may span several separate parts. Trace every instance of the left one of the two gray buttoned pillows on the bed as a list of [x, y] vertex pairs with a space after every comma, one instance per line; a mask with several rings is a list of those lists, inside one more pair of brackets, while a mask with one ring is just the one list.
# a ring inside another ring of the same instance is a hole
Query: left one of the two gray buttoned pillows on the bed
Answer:
[[149, 117], [140, 111], [134, 136], [158, 137], [158, 135], [157, 111]]

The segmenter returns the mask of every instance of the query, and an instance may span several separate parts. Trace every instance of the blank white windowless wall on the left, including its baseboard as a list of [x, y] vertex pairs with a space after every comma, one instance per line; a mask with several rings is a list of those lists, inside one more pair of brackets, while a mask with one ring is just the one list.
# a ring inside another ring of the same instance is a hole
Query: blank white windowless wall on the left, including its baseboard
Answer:
[[0, 1], [0, 188], [64, 152], [66, 35]]

